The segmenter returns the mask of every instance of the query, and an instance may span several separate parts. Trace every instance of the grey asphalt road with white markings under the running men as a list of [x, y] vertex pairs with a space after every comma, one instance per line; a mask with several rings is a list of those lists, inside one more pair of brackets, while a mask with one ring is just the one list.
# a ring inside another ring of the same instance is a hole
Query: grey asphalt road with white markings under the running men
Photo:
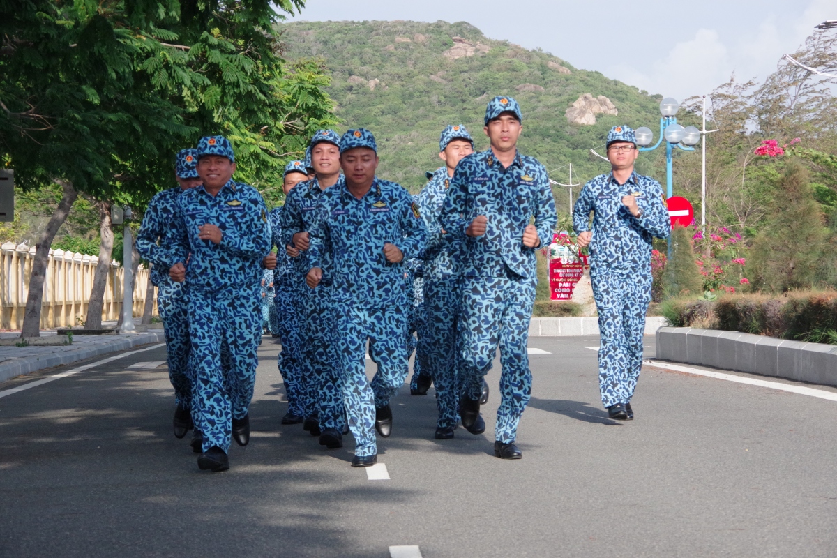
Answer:
[[162, 347], [0, 397], [0, 556], [837, 556], [837, 402], [646, 368], [636, 419], [613, 422], [590, 346], [530, 340], [549, 354], [530, 358], [519, 461], [492, 453], [499, 361], [480, 436], [435, 440], [433, 391], [403, 387], [388, 480], [349, 466], [351, 436], [326, 450], [280, 426], [269, 338], [226, 473], [173, 437], [166, 367], [129, 368]]

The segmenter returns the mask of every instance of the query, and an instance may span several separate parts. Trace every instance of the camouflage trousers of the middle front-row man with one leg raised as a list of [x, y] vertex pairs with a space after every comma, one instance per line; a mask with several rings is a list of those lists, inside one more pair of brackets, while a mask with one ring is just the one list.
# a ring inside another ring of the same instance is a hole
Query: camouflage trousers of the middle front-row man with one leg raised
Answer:
[[[407, 377], [407, 313], [400, 308], [358, 309], [336, 305], [337, 339], [343, 372], [343, 402], [355, 438], [355, 455], [377, 454], [375, 407], [384, 407]], [[377, 365], [366, 375], [366, 346]]]

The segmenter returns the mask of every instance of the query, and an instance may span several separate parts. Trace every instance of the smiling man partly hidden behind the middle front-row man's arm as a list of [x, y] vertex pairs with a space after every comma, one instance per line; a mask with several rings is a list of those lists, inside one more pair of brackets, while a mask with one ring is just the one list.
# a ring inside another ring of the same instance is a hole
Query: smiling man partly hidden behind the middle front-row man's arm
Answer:
[[333, 130], [316, 131], [307, 152], [316, 177], [290, 192], [282, 212], [282, 243], [298, 250], [292, 259], [296, 299], [303, 324], [304, 374], [308, 384], [306, 430], [320, 437], [326, 448], [341, 448], [345, 427], [340, 361], [335, 339], [334, 288], [328, 249], [322, 251], [323, 278], [316, 288], [306, 284], [310, 233], [321, 217], [320, 198], [326, 189], [342, 186], [340, 174], [340, 136]]

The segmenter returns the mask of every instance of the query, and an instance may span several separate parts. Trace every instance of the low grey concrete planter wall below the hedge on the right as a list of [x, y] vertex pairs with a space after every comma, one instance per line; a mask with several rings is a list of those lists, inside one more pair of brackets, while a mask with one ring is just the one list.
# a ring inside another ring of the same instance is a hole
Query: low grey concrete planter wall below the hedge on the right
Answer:
[[663, 327], [657, 358], [837, 386], [837, 346], [738, 331]]

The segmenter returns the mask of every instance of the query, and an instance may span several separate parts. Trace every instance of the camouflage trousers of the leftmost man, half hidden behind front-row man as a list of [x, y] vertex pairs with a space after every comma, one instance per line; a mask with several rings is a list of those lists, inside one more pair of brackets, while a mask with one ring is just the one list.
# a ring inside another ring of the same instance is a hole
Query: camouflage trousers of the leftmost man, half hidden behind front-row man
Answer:
[[174, 387], [177, 406], [192, 409], [192, 381], [189, 371], [189, 315], [182, 283], [166, 283], [157, 289], [157, 310], [166, 334], [168, 379]]

